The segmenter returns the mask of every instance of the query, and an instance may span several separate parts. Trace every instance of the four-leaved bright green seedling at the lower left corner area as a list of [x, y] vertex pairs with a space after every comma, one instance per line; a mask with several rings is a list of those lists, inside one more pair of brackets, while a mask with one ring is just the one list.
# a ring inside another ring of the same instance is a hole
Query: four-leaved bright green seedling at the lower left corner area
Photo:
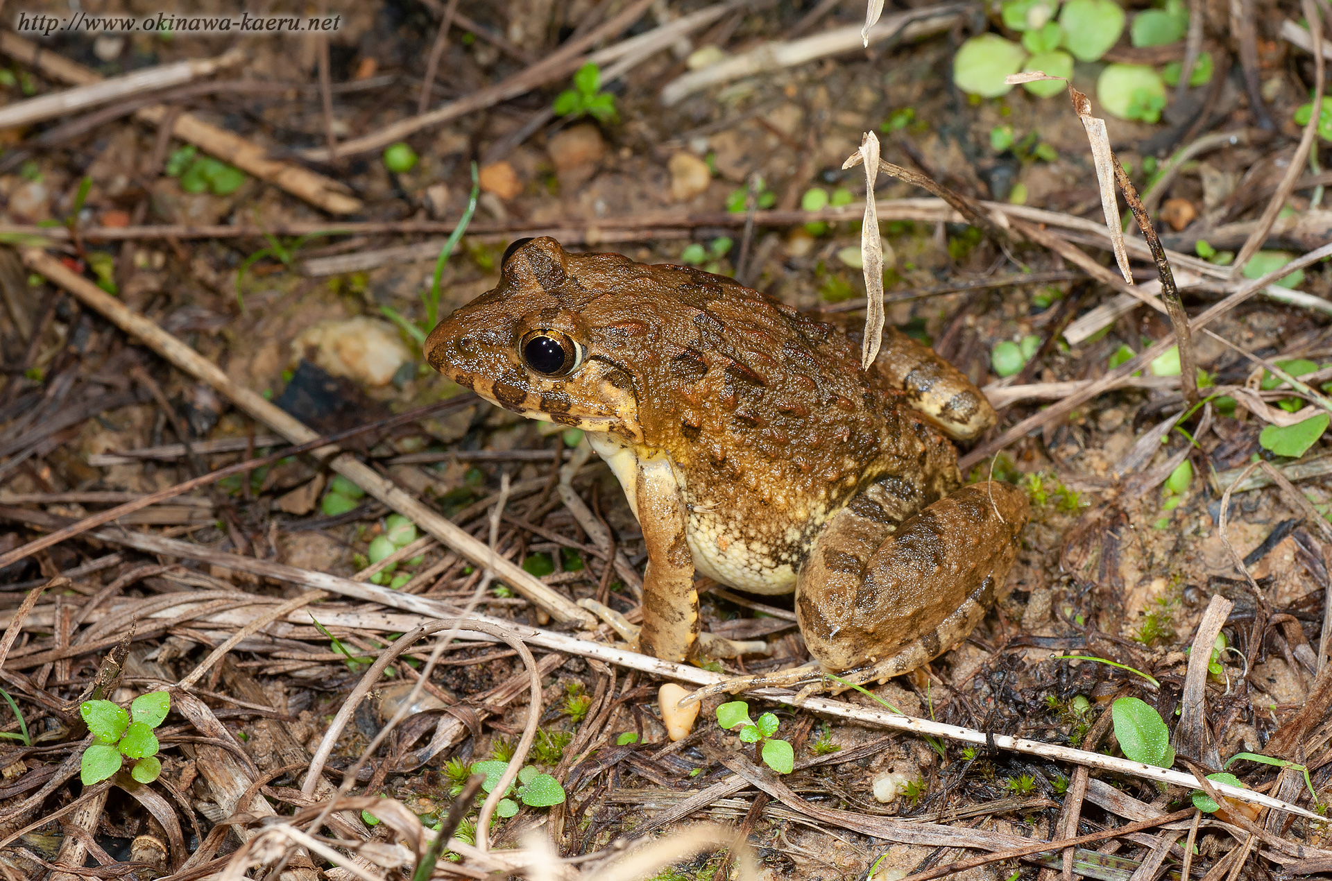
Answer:
[[166, 692], [140, 694], [129, 705], [111, 701], [84, 701], [79, 706], [93, 744], [84, 750], [80, 780], [84, 786], [101, 782], [120, 770], [125, 758], [135, 760], [131, 776], [141, 784], [151, 784], [163, 773], [157, 758], [157, 736], [153, 729], [163, 724], [170, 710]]

